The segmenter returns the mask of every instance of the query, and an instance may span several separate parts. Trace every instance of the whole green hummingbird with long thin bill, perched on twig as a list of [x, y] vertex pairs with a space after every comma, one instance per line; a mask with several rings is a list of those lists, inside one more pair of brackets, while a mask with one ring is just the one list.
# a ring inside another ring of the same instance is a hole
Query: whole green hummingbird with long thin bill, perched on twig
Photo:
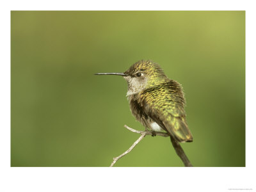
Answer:
[[182, 86], [168, 79], [153, 61], [138, 61], [124, 73], [96, 75], [123, 76], [128, 83], [127, 98], [132, 115], [150, 131], [166, 131], [179, 142], [193, 137], [186, 122]]

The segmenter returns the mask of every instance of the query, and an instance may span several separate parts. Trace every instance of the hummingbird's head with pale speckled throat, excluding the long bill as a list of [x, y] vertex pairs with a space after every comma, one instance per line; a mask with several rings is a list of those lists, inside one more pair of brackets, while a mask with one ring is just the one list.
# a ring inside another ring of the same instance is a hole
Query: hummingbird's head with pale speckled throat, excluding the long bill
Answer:
[[127, 96], [164, 83], [167, 79], [161, 67], [150, 60], [134, 63], [124, 74], [128, 83]]

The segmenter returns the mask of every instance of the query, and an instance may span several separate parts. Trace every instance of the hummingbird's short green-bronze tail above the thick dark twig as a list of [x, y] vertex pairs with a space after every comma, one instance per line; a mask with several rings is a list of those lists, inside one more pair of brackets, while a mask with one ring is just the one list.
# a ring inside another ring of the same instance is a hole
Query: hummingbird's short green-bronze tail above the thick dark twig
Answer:
[[193, 136], [189, 131], [185, 118], [172, 117], [169, 121], [164, 121], [164, 127], [175, 140], [179, 142], [192, 142]]

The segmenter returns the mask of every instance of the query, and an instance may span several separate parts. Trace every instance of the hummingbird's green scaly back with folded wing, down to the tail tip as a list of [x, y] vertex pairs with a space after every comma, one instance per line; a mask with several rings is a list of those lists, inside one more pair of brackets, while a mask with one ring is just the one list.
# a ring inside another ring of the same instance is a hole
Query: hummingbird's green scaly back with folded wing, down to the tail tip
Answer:
[[160, 127], [180, 142], [193, 141], [186, 123], [182, 87], [170, 80], [140, 93], [138, 103]]

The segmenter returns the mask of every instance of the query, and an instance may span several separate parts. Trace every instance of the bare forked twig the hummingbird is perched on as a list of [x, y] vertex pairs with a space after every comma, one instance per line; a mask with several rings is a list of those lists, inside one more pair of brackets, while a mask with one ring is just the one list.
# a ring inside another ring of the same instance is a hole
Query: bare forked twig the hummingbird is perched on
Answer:
[[[114, 157], [113, 158], [113, 162], [111, 163], [110, 166], [113, 166], [116, 161], [118, 161], [118, 159], [120, 159], [121, 157], [124, 157], [125, 155], [127, 155], [129, 152], [131, 152], [131, 150], [141, 141], [143, 140], [143, 138], [145, 138], [145, 136], [147, 135], [152, 135], [154, 134], [155, 136], [163, 136], [163, 137], [169, 137], [170, 135], [167, 133], [167, 132], [156, 132], [156, 131], [137, 131], [135, 129], [132, 129], [131, 127], [128, 127], [127, 125], [124, 125], [124, 127], [126, 129], [128, 129], [129, 131], [132, 131], [132, 132], [136, 132], [136, 133], [139, 133], [141, 134], [140, 138], [138, 138], [138, 140], [136, 140], [132, 146], [126, 150], [123, 154], [121, 154], [120, 156], [118, 157]], [[182, 149], [182, 147], [180, 146], [179, 142], [176, 141], [174, 138], [172, 138], [171, 136], [171, 141], [172, 141], [172, 145], [173, 147], [175, 148], [175, 151], [177, 153], [177, 155], [180, 157], [180, 159], [183, 161], [184, 165], [185, 166], [192, 166], [192, 164], [189, 162], [189, 159], [188, 157], [186, 156], [184, 150]]]

